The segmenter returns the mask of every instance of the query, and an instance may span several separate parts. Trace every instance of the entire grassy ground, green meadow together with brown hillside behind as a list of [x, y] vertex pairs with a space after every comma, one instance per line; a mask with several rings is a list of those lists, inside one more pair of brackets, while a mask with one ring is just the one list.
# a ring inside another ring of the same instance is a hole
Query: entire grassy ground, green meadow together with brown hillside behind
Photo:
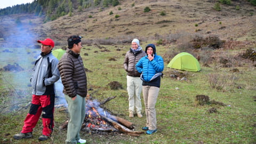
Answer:
[[[119, 2], [115, 7], [74, 10], [72, 17], [65, 15], [46, 23], [45, 17], [34, 14], [0, 17], [0, 143], [65, 141], [67, 130], [60, 126], [68, 120], [68, 113], [63, 110], [66, 100], [60, 82], [55, 85], [52, 138], [38, 141], [41, 120], [33, 138], [14, 140], [13, 135], [20, 132], [29, 111], [33, 89], [29, 79], [41, 51], [36, 40], [52, 38], [54, 49], [58, 49], [67, 47], [69, 35], [84, 37], [81, 57], [88, 94], [99, 102], [115, 96], [104, 109], [132, 122], [136, 131], [145, 126], [145, 105], [141, 94], [143, 117], [129, 117], [124, 54], [136, 37], [143, 49], [146, 44], [156, 44], [157, 55], [164, 59], [156, 102], [157, 133], [132, 137], [85, 127], [80, 135], [87, 143], [256, 143], [256, 7], [247, 0], [221, 4], [221, 11], [213, 8], [217, 0]], [[143, 12], [147, 6], [151, 11]], [[201, 71], [168, 68], [179, 52], [193, 54]], [[117, 89], [112, 89], [112, 82]], [[205, 103], [199, 102], [198, 95]]]

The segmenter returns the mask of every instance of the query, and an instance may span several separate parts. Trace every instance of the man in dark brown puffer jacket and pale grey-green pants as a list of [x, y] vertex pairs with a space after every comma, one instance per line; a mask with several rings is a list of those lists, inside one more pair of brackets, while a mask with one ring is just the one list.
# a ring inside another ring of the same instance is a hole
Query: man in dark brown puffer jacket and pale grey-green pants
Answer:
[[63, 93], [68, 102], [69, 122], [67, 143], [86, 143], [79, 132], [85, 118], [85, 97], [87, 95], [87, 79], [83, 60], [81, 36], [68, 37], [68, 49], [61, 57], [58, 68], [64, 86]]

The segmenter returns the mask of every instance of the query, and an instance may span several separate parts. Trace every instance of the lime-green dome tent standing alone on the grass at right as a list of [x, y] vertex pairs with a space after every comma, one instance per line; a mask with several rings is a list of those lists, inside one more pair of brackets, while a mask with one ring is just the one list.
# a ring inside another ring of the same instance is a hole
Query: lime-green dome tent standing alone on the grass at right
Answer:
[[181, 52], [169, 62], [169, 68], [186, 70], [186, 71], [200, 71], [201, 67], [197, 59], [190, 53]]

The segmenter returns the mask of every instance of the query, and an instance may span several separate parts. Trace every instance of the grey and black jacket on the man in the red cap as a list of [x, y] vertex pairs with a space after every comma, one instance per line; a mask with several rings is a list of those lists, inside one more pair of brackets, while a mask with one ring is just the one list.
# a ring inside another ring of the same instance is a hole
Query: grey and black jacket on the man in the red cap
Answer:
[[32, 94], [49, 95], [54, 94], [54, 82], [60, 78], [58, 70], [58, 59], [52, 52], [38, 56], [35, 62], [34, 73], [30, 78], [33, 87]]

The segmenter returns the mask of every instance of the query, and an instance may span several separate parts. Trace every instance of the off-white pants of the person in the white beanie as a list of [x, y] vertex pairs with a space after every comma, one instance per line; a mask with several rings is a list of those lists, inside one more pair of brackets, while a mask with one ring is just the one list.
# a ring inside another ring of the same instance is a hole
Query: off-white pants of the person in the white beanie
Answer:
[[129, 111], [141, 113], [141, 99], [140, 94], [142, 90], [142, 81], [140, 77], [126, 76], [127, 78], [127, 92], [129, 95]]

